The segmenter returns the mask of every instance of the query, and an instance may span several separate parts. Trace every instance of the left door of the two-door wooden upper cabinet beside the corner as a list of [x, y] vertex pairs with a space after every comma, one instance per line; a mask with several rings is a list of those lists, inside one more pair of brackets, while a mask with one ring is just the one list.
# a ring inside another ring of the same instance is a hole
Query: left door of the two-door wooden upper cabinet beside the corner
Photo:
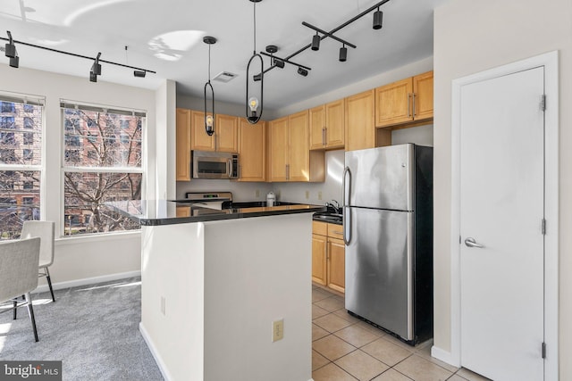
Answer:
[[288, 156], [288, 117], [273, 120], [268, 124], [270, 144], [268, 145], [269, 181], [286, 181]]

